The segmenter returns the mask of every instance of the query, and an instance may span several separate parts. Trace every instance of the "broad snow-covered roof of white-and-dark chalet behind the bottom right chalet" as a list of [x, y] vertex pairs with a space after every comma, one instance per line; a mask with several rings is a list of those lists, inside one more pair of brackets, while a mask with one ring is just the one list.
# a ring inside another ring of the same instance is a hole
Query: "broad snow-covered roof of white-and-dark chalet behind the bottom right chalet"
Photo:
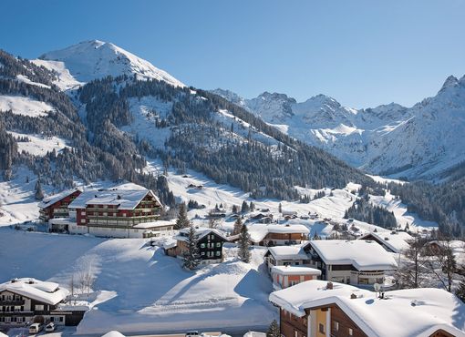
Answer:
[[379, 244], [369, 240], [311, 240], [309, 245], [325, 264], [352, 264], [358, 271], [388, 271], [396, 260]]

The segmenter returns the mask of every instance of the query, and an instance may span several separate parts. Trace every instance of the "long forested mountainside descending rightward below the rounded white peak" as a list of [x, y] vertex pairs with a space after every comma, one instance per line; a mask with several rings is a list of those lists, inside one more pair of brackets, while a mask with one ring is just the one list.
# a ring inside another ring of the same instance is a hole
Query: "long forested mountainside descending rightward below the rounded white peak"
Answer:
[[[298, 199], [295, 185], [344, 187], [349, 181], [369, 183], [364, 174], [324, 151], [289, 138], [259, 117], [210, 92], [172, 87], [157, 80], [106, 77], [79, 90], [86, 104], [88, 128], [100, 138], [112, 135], [109, 151], [122, 156], [133, 150], [114, 127], [132, 123], [132, 98], [151, 97], [171, 103], [171, 109], [151, 113], [150, 133], [167, 135], [160, 143], [147, 133], [133, 134], [140, 151], [160, 156], [166, 165], [193, 168], [219, 183], [252, 192], [253, 197]], [[224, 117], [219, 111], [225, 112]], [[107, 123], [107, 124], [106, 124]], [[108, 128], [101, 132], [102, 128]], [[129, 151], [128, 151], [129, 150]], [[122, 152], [121, 152], [122, 151]], [[120, 153], [119, 153], [120, 152]]]

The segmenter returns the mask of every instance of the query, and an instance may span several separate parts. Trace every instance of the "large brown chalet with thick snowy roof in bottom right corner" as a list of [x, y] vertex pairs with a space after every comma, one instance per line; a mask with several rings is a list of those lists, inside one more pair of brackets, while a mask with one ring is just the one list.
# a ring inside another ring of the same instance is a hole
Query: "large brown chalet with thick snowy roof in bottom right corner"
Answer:
[[284, 337], [465, 336], [465, 305], [439, 289], [372, 291], [336, 282], [305, 281], [270, 294]]

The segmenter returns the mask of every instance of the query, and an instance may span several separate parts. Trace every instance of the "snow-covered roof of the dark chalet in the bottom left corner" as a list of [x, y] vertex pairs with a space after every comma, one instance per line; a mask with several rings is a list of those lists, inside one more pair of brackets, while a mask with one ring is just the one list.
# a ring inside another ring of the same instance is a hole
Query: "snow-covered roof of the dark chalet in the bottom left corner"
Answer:
[[58, 283], [38, 281], [31, 278], [14, 279], [0, 284], [0, 291], [11, 291], [36, 301], [55, 305], [67, 298], [66, 289], [58, 288]]

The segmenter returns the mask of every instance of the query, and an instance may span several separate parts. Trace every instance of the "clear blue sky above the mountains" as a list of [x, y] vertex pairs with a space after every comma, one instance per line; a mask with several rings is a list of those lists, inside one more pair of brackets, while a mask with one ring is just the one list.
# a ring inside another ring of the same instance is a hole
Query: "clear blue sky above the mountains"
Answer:
[[0, 48], [14, 55], [99, 39], [243, 97], [411, 106], [465, 74], [465, 0], [4, 0], [1, 10]]

